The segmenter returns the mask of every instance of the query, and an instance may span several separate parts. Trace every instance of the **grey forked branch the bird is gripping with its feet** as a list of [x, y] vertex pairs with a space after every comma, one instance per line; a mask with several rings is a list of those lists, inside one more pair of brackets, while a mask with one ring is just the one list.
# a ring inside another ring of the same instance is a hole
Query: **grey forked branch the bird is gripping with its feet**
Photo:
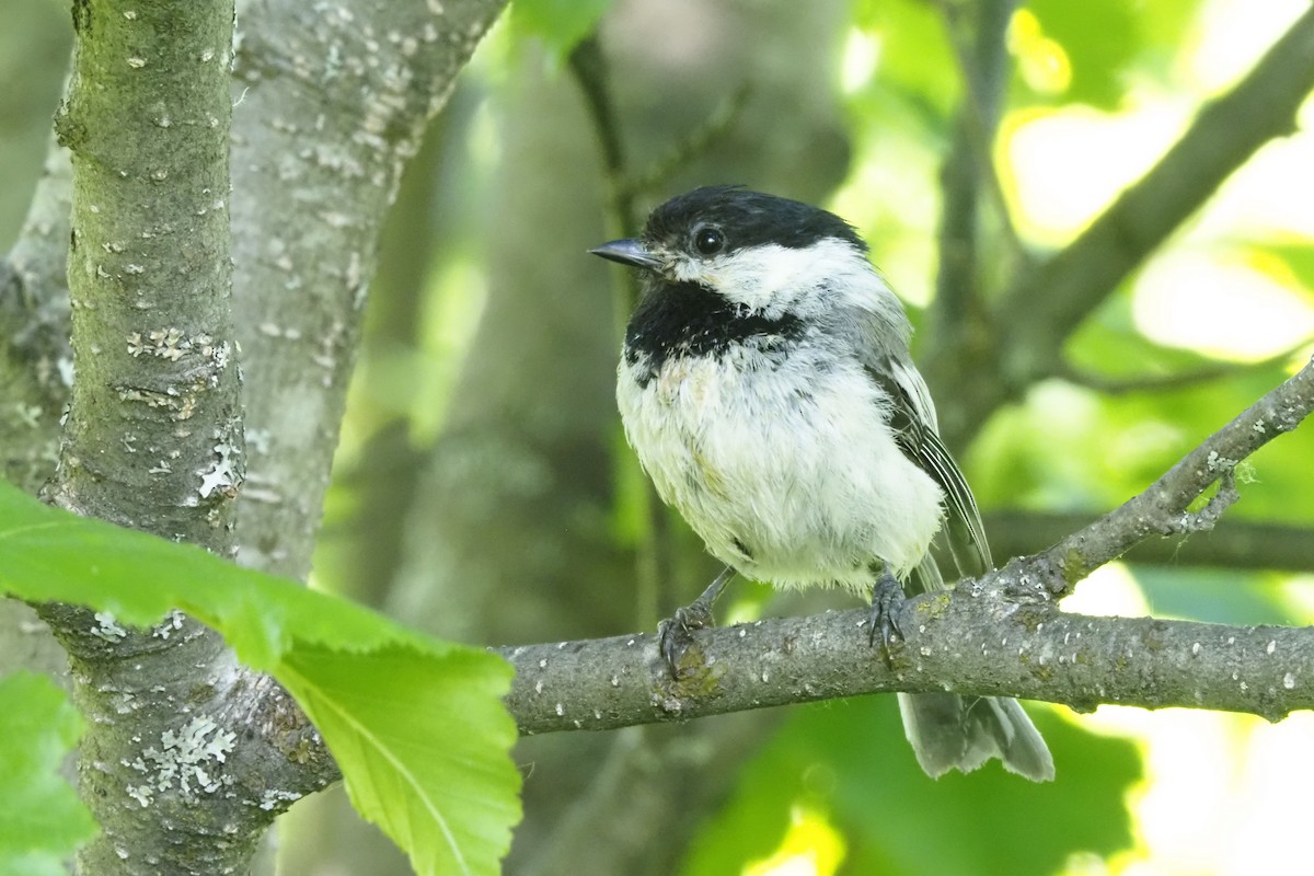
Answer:
[[[888, 691], [958, 691], [1066, 703], [1251, 712], [1314, 708], [1314, 629], [1088, 617], [1050, 596], [1154, 532], [1212, 523], [1188, 506], [1314, 410], [1314, 362], [1192, 450], [1148, 490], [1058, 546], [903, 608], [913, 630], [890, 662], [867, 646], [870, 612], [700, 630], [673, 680], [654, 636], [501, 649], [523, 733], [603, 730]], [[1226, 485], [1225, 485], [1226, 486]], [[1013, 596], [1008, 599], [1007, 596]], [[685, 666], [682, 666], [683, 668]], [[1127, 668], [1131, 671], [1127, 671]]]

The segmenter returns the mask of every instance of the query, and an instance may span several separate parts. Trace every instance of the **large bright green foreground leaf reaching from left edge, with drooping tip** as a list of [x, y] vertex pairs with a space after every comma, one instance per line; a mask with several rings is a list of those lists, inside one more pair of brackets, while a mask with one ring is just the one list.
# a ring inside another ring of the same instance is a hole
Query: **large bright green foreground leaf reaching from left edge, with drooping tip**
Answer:
[[328, 743], [360, 813], [419, 873], [495, 873], [519, 818], [511, 668], [296, 582], [78, 517], [0, 482], [0, 591], [147, 626], [177, 608], [273, 675]]

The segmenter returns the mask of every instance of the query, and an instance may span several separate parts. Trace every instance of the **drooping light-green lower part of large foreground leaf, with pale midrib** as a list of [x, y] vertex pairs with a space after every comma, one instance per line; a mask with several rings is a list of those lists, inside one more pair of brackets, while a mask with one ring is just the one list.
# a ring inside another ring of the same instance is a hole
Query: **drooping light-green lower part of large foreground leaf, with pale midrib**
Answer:
[[[505, 850], [519, 818], [518, 781], [506, 771], [516, 732], [499, 699], [507, 678], [485, 671], [487, 655], [473, 649], [453, 649], [440, 674], [419, 657], [406, 645], [360, 655], [301, 647], [285, 672], [325, 738], [360, 746], [334, 747], [339, 763], [360, 764], [343, 770], [347, 793], [369, 821], [392, 814], [393, 839], [415, 850], [418, 872], [495, 872], [465, 850]], [[484, 735], [480, 745], [472, 733]], [[426, 842], [435, 833], [443, 842]]]

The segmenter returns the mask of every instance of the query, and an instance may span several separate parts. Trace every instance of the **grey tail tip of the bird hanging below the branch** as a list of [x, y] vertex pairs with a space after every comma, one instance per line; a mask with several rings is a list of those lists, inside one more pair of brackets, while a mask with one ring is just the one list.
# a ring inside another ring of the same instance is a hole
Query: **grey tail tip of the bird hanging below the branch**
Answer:
[[991, 758], [1031, 781], [1054, 779], [1054, 758], [1017, 700], [957, 693], [900, 693], [904, 733], [933, 779], [971, 772]]

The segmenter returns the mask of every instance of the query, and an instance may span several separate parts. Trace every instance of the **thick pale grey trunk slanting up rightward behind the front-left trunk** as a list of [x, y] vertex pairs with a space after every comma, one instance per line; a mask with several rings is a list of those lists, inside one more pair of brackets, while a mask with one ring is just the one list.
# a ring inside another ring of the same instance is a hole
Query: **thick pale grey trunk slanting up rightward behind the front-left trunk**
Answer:
[[[238, 20], [233, 307], [244, 565], [305, 578], [384, 217], [506, 0], [251, 3]], [[326, 72], [327, 71], [327, 72]]]

